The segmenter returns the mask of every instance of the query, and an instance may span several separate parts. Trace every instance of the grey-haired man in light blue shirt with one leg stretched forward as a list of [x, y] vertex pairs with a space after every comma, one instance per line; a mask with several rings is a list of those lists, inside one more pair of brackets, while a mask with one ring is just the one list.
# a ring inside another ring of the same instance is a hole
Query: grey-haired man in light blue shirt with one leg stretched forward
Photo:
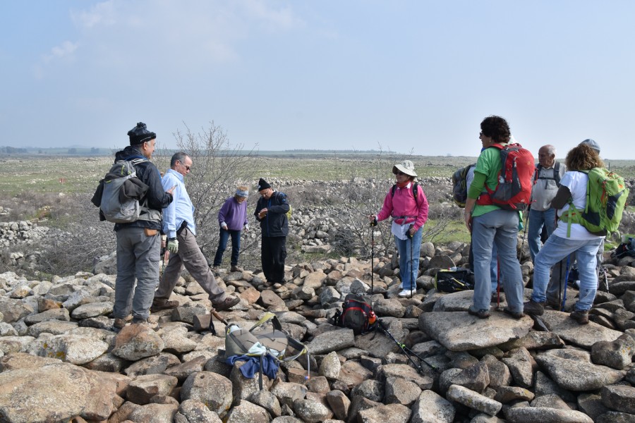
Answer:
[[240, 298], [231, 297], [220, 288], [210, 266], [207, 266], [207, 259], [196, 243], [194, 206], [183, 183], [183, 177], [190, 172], [192, 164], [188, 154], [175, 153], [170, 161], [170, 168], [162, 179], [164, 187], [174, 187], [174, 201], [163, 209], [163, 233], [168, 238], [170, 259], [152, 301], [152, 312], [179, 305], [178, 301], [170, 301], [169, 298], [181, 276], [183, 266], [210, 296], [215, 309], [229, 309], [240, 302]]

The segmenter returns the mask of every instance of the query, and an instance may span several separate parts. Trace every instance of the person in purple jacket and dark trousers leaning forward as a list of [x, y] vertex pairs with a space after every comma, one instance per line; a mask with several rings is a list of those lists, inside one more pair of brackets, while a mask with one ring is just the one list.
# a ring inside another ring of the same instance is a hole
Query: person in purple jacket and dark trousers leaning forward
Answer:
[[218, 223], [220, 225], [220, 237], [218, 249], [214, 256], [214, 269], [220, 266], [223, 261], [223, 253], [227, 248], [227, 240], [231, 235], [231, 271], [242, 271], [238, 267], [238, 253], [241, 251], [241, 230], [248, 230], [247, 225], [247, 196], [249, 188], [240, 185], [236, 189], [234, 197], [225, 200], [223, 207], [218, 212]]

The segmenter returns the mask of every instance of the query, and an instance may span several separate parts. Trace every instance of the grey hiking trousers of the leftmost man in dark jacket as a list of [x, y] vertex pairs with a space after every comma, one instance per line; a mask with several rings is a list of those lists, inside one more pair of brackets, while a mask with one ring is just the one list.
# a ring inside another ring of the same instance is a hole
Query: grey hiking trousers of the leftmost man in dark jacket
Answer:
[[147, 319], [159, 284], [159, 234], [147, 236], [143, 228], [135, 227], [121, 228], [116, 233], [117, 278], [112, 314], [119, 319], [125, 318], [131, 312], [132, 303], [133, 317]]

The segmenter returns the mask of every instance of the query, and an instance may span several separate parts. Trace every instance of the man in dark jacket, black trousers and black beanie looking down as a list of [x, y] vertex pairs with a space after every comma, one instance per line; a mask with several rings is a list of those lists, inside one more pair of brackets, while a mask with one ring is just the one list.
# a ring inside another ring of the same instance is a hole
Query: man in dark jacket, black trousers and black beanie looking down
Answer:
[[266, 180], [258, 181], [260, 199], [256, 204], [255, 218], [262, 229], [260, 260], [262, 272], [268, 283], [284, 283], [284, 259], [286, 259], [286, 235], [289, 235], [289, 203], [286, 195], [272, 190]]

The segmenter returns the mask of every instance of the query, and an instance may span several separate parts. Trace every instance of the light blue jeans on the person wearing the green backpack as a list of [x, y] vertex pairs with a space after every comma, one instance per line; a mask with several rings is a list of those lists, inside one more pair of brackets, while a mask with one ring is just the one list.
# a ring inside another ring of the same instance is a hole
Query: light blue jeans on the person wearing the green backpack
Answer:
[[549, 283], [549, 270], [572, 252], [575, 252], [580, 278], [580, 293], [576, 309], [588, 310], [593, 305], [595, 292], [598, 290], [598, 274], [595, 272], [597, 259], [595, 254], [602, 243], [602, 238], [595, 240], [571, 240], [551, 235], [536, 256], [533, 268], [533, 293], [531, 300], [544, 302]]

